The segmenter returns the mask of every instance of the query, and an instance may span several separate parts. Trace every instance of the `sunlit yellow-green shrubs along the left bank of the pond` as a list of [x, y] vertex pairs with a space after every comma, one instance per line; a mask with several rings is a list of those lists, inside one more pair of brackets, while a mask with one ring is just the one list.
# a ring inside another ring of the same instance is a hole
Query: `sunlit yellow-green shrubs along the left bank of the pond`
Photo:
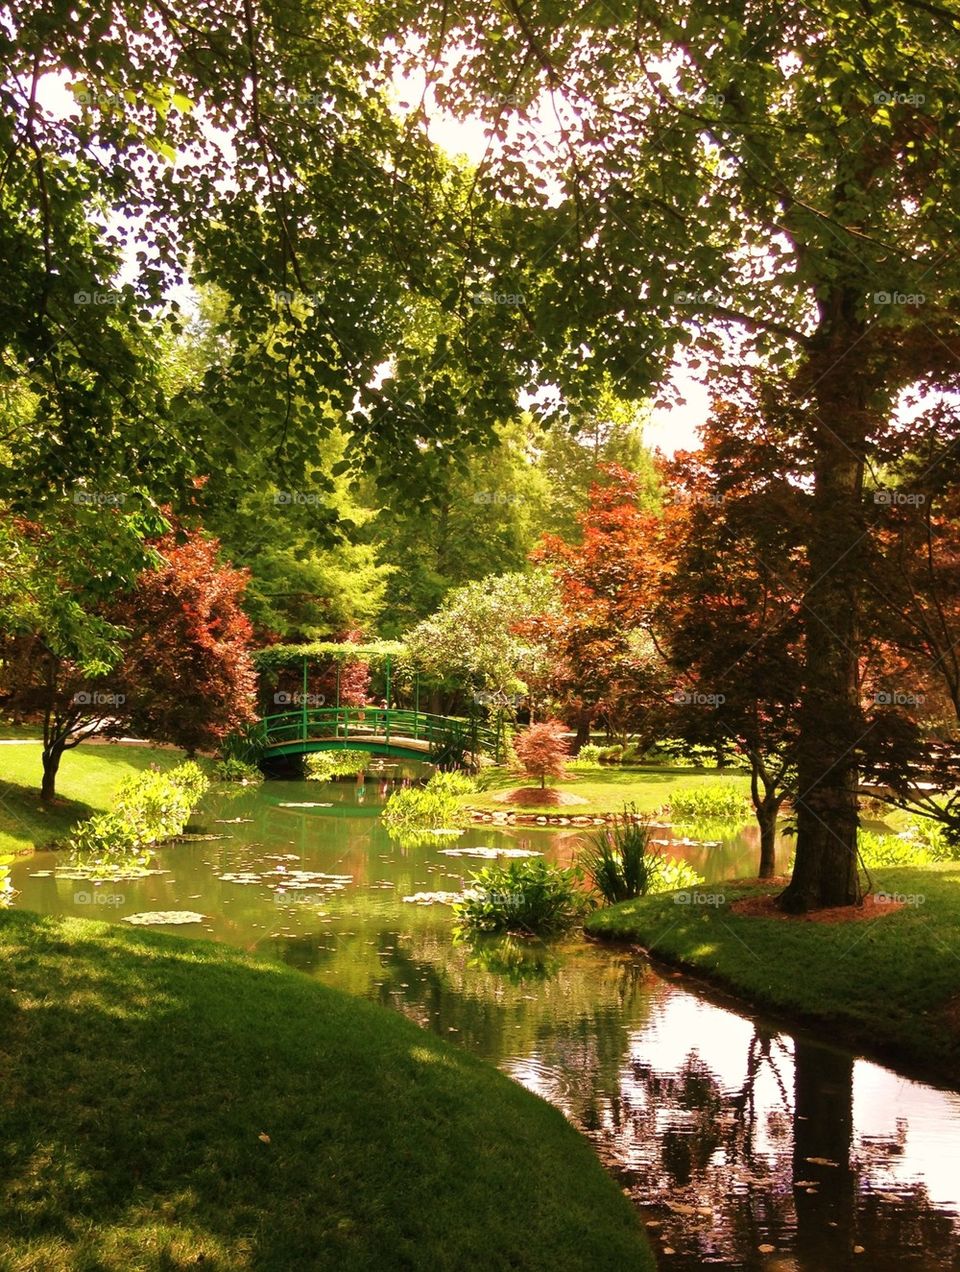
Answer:
[[67, 843], [71, 860], [88, 869], [145, 868], [149, 850], [179, 834], [207, 786], [193, 761], [165, 773], [151, 770], [125, 778], [114, 806], [74, 831]]

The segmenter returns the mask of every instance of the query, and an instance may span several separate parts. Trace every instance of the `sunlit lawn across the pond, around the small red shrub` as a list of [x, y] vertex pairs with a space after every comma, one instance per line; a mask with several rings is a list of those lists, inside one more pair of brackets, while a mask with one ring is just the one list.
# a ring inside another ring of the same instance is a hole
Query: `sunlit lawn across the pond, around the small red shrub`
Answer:
[[[576, 817], [580, 813], [600, 815], [619, 813], [624, 803], [636, 804], [641, 813], [652, 813], [670, 801], [670, 792], [678, 786], [740, 786], [749, 798], [750, 778], [748, 773], [736, 770], [717, 772], [715, 768], [671, 768], [669, 766], [643, 764], [621, 767], [619, 764], [590, 766], [577, 770], [571, 767], [568, 777], [552, 785], [571, 795], [579, 795], [586, 804], [524, 804], [524, 813], [563, 813]], [[498, 791], [514, 790], [518, 786], [535, 786], [510, 768], [491, 768], [484, 772], [486, 790], [477, 795], [462, 796], [462, 803], [469, 808], [484, 812], [506, 812], [512, 805], [493, 796]], [[518, 808], [518, 810], [520, 810]]]

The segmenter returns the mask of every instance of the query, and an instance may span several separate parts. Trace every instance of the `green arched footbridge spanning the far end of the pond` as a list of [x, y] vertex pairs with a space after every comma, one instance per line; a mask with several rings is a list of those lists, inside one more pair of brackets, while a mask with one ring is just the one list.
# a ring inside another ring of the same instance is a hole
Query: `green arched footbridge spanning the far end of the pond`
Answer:
[[263, 717], [263, 758], [314, 750], [369, 750], [375, 756], [470, 763], [481, 753], [500, 759], [496, 729], [463, 716], [394, 707], [310, 707]]

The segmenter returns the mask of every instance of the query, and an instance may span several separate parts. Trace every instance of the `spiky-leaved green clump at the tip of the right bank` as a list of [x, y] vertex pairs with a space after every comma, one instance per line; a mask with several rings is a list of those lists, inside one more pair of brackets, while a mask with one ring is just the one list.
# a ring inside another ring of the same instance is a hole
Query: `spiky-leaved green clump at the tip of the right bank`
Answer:
[[636, 820], [631, 805], [590, 838], [580, 862], [594, 888], [610, 906], [651, 892], [703, 883], [685, 861], [664, 856], [659, 847], [650, 843], [650, 826]]

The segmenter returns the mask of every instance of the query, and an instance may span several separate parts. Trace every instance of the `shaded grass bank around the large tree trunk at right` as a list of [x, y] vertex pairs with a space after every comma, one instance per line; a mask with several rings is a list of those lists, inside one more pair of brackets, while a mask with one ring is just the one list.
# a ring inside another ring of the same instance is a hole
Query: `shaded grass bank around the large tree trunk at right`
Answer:
[[[874, 870], [875, 893], [923, 897], [882, 917], [811, 922], [737, 915], [730, 903], [782, 884], [710, 884], [596, 911], [586, 930], [636, 941], [749, 1002], [960, 1082], [960, 862]], [[688, 894], [689, 895], [689, 894]]]

